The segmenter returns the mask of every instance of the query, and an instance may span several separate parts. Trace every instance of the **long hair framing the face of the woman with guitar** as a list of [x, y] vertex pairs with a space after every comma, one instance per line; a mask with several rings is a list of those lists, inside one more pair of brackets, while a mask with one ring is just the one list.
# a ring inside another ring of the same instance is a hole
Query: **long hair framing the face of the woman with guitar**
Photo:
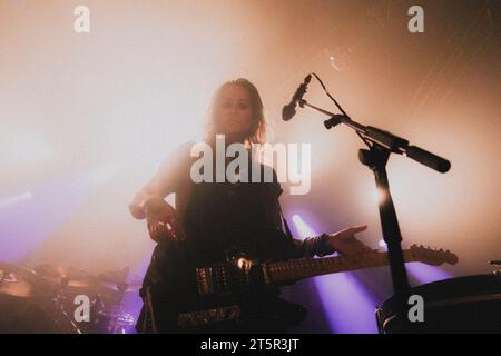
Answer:
[[205, 140], [213, 141], [216, 132], [216, 106], [220, 100], [223, 90], [230, 86], [239, 86], [245, 88], [250, 96], [250, 108], [253, 111], [253, 126], [245, 138], [245, 145], [250, 147], [253, 144], [264, 144], [266, 141], [266, 119], [264, 116], [263, 100], [261, 99], [257, 88], [247, 79], [238, 78], [235, 80], [229, 80], [224, 82], [214, 92], [213, 99], [210, 100], [210, 106], [207, 111], [206, 123], [205, 123]]

